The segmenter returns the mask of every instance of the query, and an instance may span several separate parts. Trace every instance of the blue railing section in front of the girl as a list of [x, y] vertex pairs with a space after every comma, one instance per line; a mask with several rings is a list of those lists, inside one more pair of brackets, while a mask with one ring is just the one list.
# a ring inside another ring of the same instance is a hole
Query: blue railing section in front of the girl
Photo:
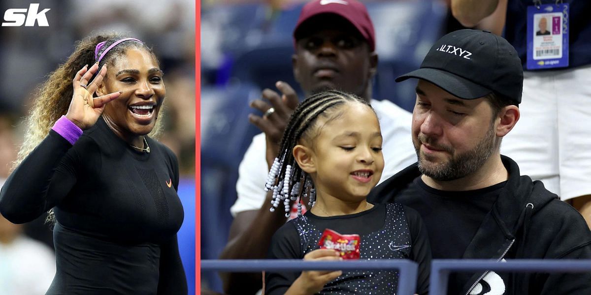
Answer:
[[410, 260], [375, 259], [345, 261], [304, 260], [202, 260], [204, 271], [301, 271], [301, 270], [398, 270], [399, 295], [411, 295], [417, 286], [417, 263]]

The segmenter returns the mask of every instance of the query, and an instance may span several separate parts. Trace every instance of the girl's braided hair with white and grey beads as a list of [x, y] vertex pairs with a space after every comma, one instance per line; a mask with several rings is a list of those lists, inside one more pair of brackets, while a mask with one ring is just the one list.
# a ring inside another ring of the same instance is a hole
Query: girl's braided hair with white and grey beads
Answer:
[[279, 154], [275, 158], [265, 184], [265, 191], [272, 191], [271, 212], [283, 202], [285, 217], [290, 215], [290, 201], [297, 201], [297, 214], [301, 215], [303, 198], [309, 198], [308, 205], [316, 202], [316, 189], [310, 176], [301, 170], [294, 159], [292, 150], [301, 138], [313, 138], [314, 123], [321, 116], [329, 116], [330, 111], [345, 103], [362, 103], [371, 108], [368, 101], [353, 94], [338, 90], [327, 90], [302, 101], [291, 114], [285, 127]]

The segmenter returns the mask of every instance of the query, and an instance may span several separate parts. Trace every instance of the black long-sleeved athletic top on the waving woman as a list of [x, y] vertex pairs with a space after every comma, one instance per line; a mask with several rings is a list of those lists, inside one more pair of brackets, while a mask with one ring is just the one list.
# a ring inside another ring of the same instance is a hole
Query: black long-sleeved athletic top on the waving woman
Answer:
[[150, 153], [132, 149], [102, 118], [74, 146], [51, 130], [7, 179], [0, 212], [9, 221], [54, 208], [57, 272], [47, 294], [187, 294], [178, 162], [147, 142]]

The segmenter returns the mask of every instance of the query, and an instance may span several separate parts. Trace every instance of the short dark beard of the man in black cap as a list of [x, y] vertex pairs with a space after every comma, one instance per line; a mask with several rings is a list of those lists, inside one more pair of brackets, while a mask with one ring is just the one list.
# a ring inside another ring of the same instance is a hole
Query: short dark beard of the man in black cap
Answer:
[[[428, 159], [429, 155], [421, 157], [421, 145], [420, 143], [428, 143], [433, 145], [437, 149], [443, 149], [446, 152], [453, 155], [453, 148], [449, 146], [440, 146], [434, 144], [434, 140], [427, 136], [418, 136], [418, 145], [415, 145], [415, 152], [417, 152], [418, 158], [418, 169], [424, 175], [435, 179], [436, 181], [453, 181], [455, 179], [463, 178], [466, 175], [470, 175], [476, 172], [486, 160], [488, 160], [495, 150], [495, 134], [493, 132], [493, 126], [486, 132], [485, 137], [480, 140], [476, 146], [468, 150], [467, 152], [460, 153], [452, 156], [446, 163], [430, 163]], [[431, 164], [431, 165], [430, 165]]]

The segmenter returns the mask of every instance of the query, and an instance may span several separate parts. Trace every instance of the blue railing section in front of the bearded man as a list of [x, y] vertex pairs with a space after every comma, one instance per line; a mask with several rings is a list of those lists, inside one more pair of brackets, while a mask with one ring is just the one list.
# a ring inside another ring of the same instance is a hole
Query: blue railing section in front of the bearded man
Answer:
[[582, 273], [591, 271], [590, 260], [518, 259], [491, 260], [433, 260], [431, 261], [430, 295], [447, 294], [447, 281], [452, 271], [506, 271], [519, 273]]

